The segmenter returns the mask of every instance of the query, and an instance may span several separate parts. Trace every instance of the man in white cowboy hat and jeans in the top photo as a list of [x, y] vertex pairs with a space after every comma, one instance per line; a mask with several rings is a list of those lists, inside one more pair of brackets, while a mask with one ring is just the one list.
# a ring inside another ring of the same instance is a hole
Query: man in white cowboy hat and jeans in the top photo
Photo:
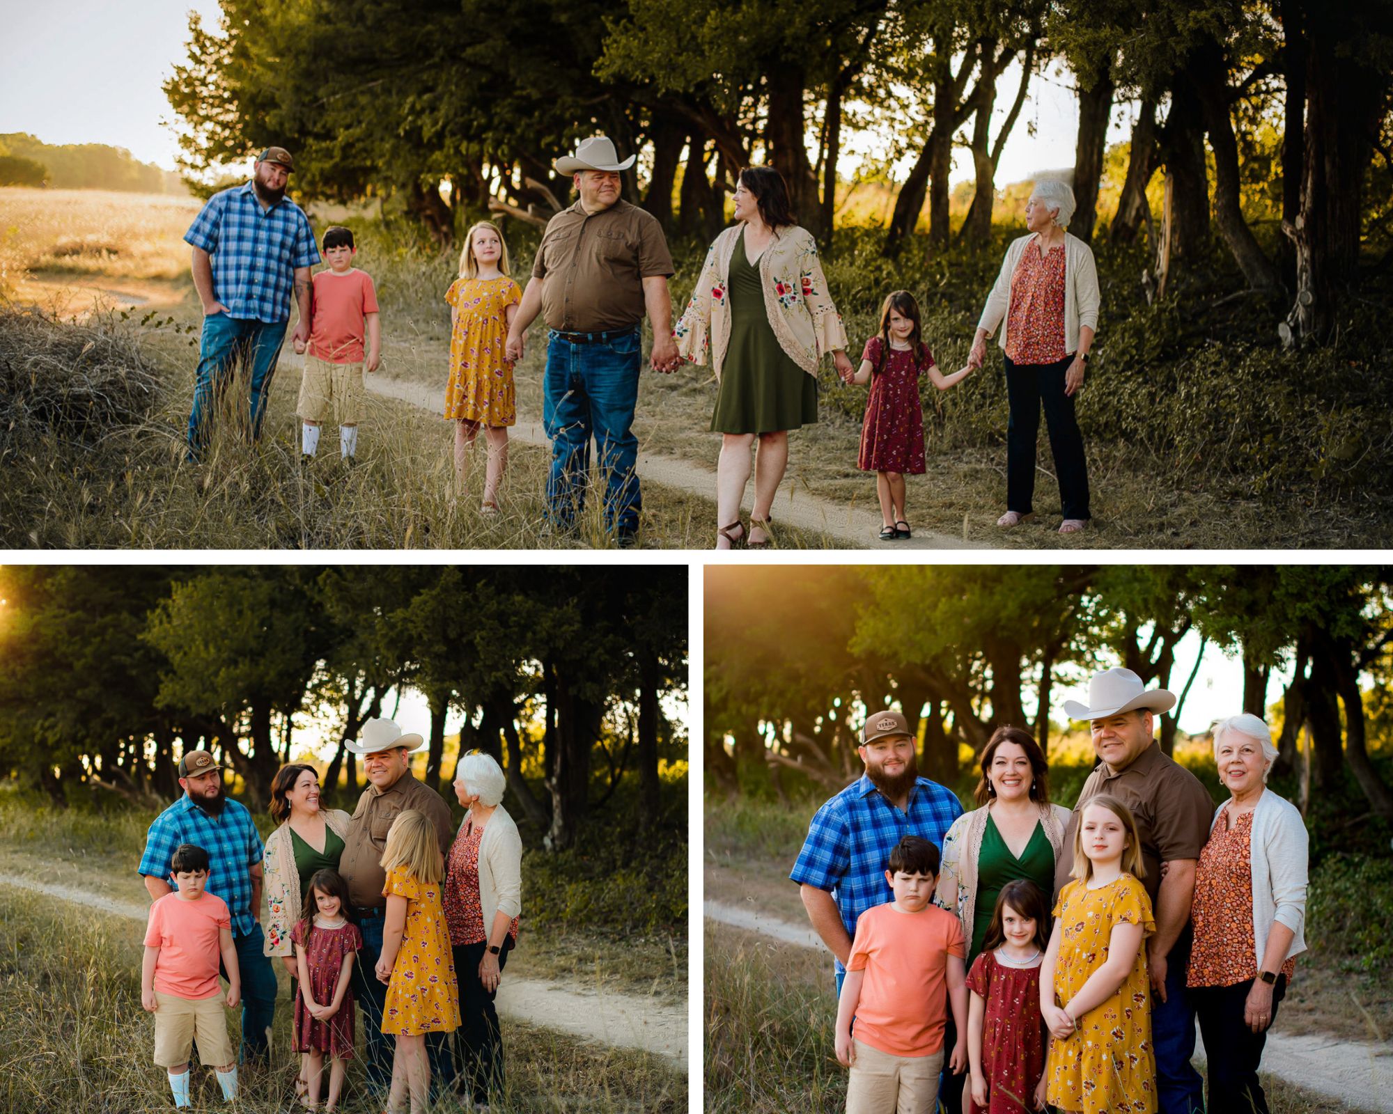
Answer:
[[603, 135], [581, 141], [574, 157], [556, 160], [579, 201], [547, 223], [507, 341], [508, 359], [521, 359], [527, 329], [542, 312], [550, 330], [542, 395], [542, 423], [552, 440], [547, 519], [559, 529], [575, 524], [593, 436], [605, 475], [605, 528], [621, 546], [635, 542], [642, 508], [631, 426], [645, 312], [653, 326], [653, 370], [681, 363], [667, 292], [673, 260], [662, 226], [620, 198], [620, 173], [632, 164], [634, 156], [621, 162]]

